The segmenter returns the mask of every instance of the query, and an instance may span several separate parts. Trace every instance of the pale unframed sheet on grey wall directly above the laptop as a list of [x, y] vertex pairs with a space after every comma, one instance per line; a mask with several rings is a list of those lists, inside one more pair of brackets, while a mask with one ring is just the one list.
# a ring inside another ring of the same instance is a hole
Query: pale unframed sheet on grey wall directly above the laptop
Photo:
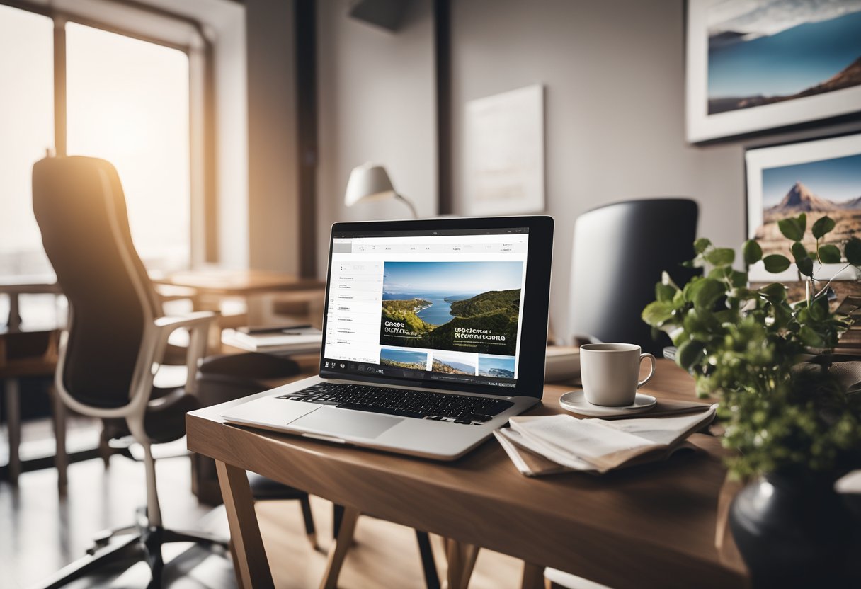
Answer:
[[467, 102], [467, 214], [544, 210], [544, 88], [541, 84]]

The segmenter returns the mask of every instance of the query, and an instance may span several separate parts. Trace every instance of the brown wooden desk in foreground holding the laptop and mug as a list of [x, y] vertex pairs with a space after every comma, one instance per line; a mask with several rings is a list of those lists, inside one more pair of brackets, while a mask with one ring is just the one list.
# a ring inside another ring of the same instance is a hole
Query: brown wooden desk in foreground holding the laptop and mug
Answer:
[[[561, 412], [564, 387], [545, 388], [530, 414]], [[693, 381], [659, 360], [644, 391], [693, 396]], [[740, 568], [715, 549], [718, 494], [726, 473], [717, 439], [696, 434], [703, 452], [596, 477], [530, 479], [492, 438], [456, 462], [431, 462], [225, 425], [226, 406], [189, 413], [189, 449], [217, 461], [238, 577], [272, 586], [244, 469], [375, 517], [427, 530], [527, 563], [524, 586], [541, 567], [625, 587], [745, 586]], [[455, 583], [456, 585], [456, 583]], [[454, 589], [454, 588], [453, 588]]]

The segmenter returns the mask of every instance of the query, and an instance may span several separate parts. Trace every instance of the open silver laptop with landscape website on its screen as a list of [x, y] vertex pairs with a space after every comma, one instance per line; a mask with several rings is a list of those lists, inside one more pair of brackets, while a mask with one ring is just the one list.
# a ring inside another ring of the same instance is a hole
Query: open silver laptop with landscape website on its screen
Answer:
[[541, 400], [553, 219], [336, 223], [319, 375], [227, 423], [437, 460]]

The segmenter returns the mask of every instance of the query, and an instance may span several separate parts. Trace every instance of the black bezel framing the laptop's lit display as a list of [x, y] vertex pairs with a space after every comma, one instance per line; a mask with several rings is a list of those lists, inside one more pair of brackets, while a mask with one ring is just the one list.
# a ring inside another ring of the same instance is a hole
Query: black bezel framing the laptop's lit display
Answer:
[[523, 313], [520, 328], [520, 354], [517, 381], [513, 387], [491, 384], [432, 379], [410, 379], [394, 376], [358, 375], [327, 369], [325, 361], [325, 335], [320, 349], [319, 375], [323, 378], [370, 382], [403, 387], [422, 387], [461, 391], [464, 393], [492, 394], [500, 397], [526, 396], [541, 399], [544, 387], [544, 352], [547, 346], [548, 306], [550, 297], [550, 270], [553, 252], [554, 221], [547, 215], [512, 217], [466, 217], [446, 219], [393, 220], [338, 222], [331, 226], [329, 260], [326, 268], [323, 333], [328, 321], [329, 287], [331, 285], [332, 244], [336, 237], [362, 233], [398, 233], [424, 231], [472, 231], [483, 229], [527, 228], [529, 242], [526, 254], [526, 280], [523, 292]]

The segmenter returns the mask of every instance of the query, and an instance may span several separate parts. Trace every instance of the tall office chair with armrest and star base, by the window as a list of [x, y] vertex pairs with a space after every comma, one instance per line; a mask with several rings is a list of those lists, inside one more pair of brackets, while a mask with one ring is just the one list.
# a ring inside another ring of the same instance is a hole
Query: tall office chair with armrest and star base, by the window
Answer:
[[[144, 449], [146, 509], [118, 533], [123, 541], [94, 550], [46, 586], [71, 580], [130, 555], [143, 555], [160, 584], [164, 542], [221, 544], [226, 540], [165, 529], [155, 479], [152, 444], [185, 434], [185, 413], [200, 404], [193, 396], [213, 313], [161, 316], [158, 296], [132, 244], [126, 202], [111, 164], [95, 158], [46, 158], [34, 165], [33, 209], [42, 243], [69, 301], [69, 329], [60, 345], [56, 387], [72, 410], [121, 424]], [[152, 378], [170, 333], [191, 334], [185, 387], [153, 391]]]

